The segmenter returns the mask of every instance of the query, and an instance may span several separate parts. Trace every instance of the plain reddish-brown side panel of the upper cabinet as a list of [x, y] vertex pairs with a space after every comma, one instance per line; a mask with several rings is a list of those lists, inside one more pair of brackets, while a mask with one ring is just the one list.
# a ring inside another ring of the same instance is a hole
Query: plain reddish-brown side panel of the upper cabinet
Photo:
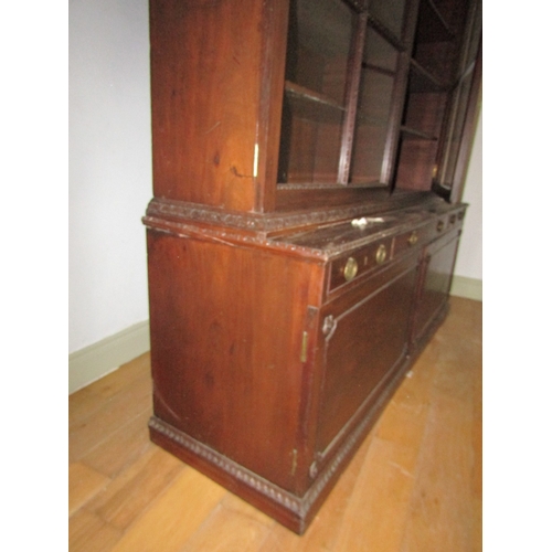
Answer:
[[151, 0], [156, 197], [254, 209], [262, 8]]

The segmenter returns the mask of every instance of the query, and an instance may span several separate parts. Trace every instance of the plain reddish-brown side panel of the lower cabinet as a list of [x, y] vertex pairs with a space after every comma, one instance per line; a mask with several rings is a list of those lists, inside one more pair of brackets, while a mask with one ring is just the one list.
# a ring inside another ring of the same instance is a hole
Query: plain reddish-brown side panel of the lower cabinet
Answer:
[[310, 269], [148, 231], [155, 414], [294, 491]]

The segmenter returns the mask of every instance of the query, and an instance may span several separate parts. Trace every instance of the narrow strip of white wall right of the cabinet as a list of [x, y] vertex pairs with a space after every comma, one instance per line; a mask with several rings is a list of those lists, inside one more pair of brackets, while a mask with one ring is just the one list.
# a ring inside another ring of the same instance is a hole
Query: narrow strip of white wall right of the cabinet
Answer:
[[455, 276], [482, 282], [482, 117], [479, 113], [461, 200], [469, 203]]

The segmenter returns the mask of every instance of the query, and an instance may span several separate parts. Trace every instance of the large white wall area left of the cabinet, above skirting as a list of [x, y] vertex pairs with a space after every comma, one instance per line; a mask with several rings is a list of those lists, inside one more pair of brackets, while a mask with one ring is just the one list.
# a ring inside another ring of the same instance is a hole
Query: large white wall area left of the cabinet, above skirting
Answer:
[[147, 0], [71, 0], [68, 30], [71, 353], [148, 318]]

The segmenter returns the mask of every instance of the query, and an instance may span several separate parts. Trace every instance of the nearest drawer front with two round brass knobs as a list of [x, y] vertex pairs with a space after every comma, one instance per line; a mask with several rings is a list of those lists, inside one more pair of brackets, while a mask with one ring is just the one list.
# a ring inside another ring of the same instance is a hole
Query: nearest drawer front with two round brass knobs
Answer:
[[392, 244], [393, 240], [386, 237], [333, 261], [330, 268], [330, 290], [384, 266], [391, 259]]

